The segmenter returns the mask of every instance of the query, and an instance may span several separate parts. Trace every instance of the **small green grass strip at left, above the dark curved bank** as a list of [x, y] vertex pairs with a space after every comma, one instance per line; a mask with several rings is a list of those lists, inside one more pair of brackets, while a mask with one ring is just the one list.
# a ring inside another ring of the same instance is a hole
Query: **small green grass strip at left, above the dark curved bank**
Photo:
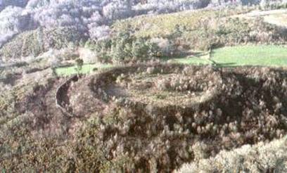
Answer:
[[[112, 65], [110, 64], [85, 64], [82, 66], [82, 70], [80, 70], [79, 73], [81, 74], [89, 74], [90, 72], [93, 72], [95, 68], [101, 69], [101, 68], [110, 68]], [[70, 76], [77, 74], [76, 66], [69, 66], [69, 67], [62, 67], [62, 68], [56, 68], [56, 74], [60, 76]]]

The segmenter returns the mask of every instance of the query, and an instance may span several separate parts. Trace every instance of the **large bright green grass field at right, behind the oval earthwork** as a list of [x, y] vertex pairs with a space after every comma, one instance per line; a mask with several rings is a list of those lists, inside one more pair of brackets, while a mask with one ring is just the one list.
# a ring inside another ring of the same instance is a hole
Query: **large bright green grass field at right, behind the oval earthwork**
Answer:
[[[222, 67], [236, 67], [242, 65], [254, 66], [287, 66], [286, 46], [233, 46], [215, 49], [211, 53], [211, 60]], [[210, 64], [206, 56], [190, 56], [187, 58], [173, 58], [172, 62], [185, 64]]]

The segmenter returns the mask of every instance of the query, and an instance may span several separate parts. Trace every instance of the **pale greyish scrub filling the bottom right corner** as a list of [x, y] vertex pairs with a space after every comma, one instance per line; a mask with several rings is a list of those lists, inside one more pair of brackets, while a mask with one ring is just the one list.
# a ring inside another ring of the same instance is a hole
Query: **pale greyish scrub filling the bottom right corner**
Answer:
[[221, 151], [214, 158], [183, 165], [177, 172], [286, 172], [286, 137]]

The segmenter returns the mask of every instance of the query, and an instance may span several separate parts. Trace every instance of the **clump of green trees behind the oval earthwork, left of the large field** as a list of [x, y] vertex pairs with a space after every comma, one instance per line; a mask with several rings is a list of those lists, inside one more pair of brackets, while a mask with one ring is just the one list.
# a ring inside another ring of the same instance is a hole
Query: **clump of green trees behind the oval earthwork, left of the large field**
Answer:
[[101, 62], [129, 63], [158, 56], [158, 45], [149, 39], [136, 38], [130, 32], [116, 33], [111, 39], [89, 40], [86, 47], [95, 51]]

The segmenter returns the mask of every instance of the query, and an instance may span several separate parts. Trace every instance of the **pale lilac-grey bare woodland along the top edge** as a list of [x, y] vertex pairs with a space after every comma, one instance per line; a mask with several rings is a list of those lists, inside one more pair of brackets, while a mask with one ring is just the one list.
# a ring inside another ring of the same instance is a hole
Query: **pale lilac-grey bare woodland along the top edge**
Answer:
[[[279, 1], [281, 2], [281, 1]], [[113, 21], [146, 13], [172, 13], [208, 6], [267, 4], [230, 0], [1, 0], [0, 46], [15, 34], [37, 27], [73, 26], [93, 39], [106, 38]]]

